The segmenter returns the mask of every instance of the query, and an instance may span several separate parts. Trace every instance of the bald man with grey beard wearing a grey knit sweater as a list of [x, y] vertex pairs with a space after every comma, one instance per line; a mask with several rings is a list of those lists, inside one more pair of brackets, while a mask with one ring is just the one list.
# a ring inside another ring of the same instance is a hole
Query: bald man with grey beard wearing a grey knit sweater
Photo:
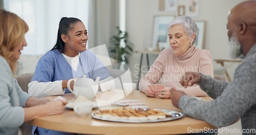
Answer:
[[199, 84], [214, 100], [198, 101], [176, 89], [170, 89], [171, 99], [173, 105], [187, 116], [216, 127], [230, 125], [241, 118], [241, 132], [256, 134], [256, 1], [246, 1], [234, 7], [228, 15], [227, 29], [231, 57], [245, 56], [233, 81], [229, 83], [187, 72], [181, 85]]

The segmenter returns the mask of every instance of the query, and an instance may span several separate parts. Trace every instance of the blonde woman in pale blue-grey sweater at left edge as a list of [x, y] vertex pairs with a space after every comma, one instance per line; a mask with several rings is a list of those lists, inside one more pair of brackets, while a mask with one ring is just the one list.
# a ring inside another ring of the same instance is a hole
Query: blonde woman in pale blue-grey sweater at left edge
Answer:
[[13, 73], [23, 47], [27, 46], [26, 22], [0, 10], [0, 134], [18, 134], [18, 126], [36, 117], [63, 113], [66, 100], [33, 98], [19, 87]]

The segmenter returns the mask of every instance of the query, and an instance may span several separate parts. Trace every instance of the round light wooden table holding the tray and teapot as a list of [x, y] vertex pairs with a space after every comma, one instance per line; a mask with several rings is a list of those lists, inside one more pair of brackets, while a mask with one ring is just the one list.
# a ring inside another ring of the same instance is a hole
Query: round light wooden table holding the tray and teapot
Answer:
[[[61, 95], [66, 99], [74, 98], [73, 94]], [[98, 94], [98, 97], [105, 97], [104, 93]], [[149, 108], [159, 108], [181, 111], [172, 105], [169, 99], [150, 98], [140, 91], [135, 91], [133, 95], [128, 95], [124, 99], [136, 99], [146, 103]], [[205, 97], [209, 100], [209, 97]], [[106, 105], [100, 109], [112, 109], [112, 106]], [[93, 111], [98, 110], [95, 108]], [[203, 129], [216, 128], [207, 122], [190, 117], [183, 117], [179, 120], [157, 122], [157, 123], [119, 123], [101, 121], [89, 117], [77, 117], [72, 109], [65, 109], [61, 115], [39, 117], [28, 123], [39, 127], [65, 132], [86, 133], [86, 134], [180, 134], [187, 133], [187, 128]]]

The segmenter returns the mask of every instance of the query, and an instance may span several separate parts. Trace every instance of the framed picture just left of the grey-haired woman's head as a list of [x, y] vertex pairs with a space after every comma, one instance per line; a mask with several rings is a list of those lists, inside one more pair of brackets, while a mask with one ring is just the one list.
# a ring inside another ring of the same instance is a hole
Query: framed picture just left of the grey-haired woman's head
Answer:
[[157, 15], [154, 16], [152, 47], [154, 50], [162, 51], [169, 47], [168, 25], [173, 20], [174, 15]]

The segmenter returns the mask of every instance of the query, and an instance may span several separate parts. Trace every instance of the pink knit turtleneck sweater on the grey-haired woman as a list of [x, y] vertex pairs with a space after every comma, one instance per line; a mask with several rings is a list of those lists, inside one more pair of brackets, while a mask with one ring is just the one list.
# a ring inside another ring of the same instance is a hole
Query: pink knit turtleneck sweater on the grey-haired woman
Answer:
[[145, 93], [147, 85], [156, 83], [170, 87], [169, 82], [172, 81], [176, 84], [178, 90], [184, 91], [190, 96], [206, 96], [207, 94], [197, 84], [187, 88], [181, 86], [179, 81], [187, 71], [200, 72], [213, 77], [214, 70], [210, 52], [192, 46], [183, 55], [175, 56], [172, 49], [164, 49], [147, 74], [141, 78], [139, 89]]

